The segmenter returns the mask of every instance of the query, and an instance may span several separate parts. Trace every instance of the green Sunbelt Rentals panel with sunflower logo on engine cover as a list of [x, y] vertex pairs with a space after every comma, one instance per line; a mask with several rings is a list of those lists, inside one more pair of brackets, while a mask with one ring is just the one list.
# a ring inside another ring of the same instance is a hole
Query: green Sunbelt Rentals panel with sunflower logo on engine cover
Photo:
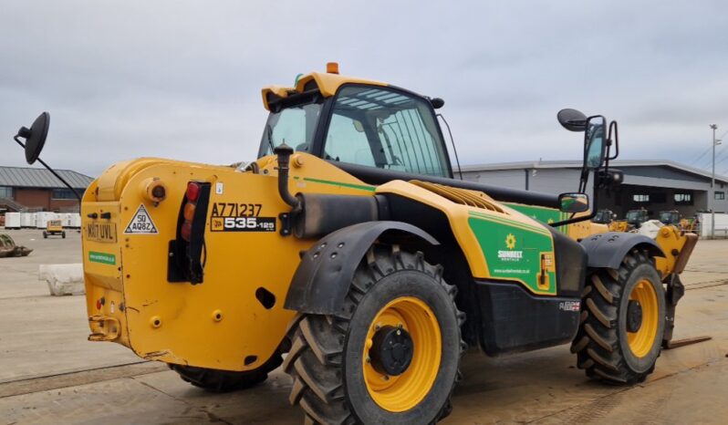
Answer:
[[[554, 243], [546, 229], [471, 213], [470, 228], [480, 244], [490, 274], [523, 282], [541, 294], [556, 294], [556, 274], [546, 271], [546, 285], [539, 287], [544, 264], [553, 264]], [[553, 267], [549, 267], [553, 268]]]

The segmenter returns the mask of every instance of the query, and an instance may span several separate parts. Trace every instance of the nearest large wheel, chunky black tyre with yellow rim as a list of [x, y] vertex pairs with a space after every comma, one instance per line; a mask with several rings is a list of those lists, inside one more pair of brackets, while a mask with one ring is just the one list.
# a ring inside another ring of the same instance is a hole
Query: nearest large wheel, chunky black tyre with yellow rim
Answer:
[[307, 423], [444, 418], [464, 351], [455, 293], [421, 253], [373, 246], [354, 275], [346, 314], [301, 314], [290, 327], [289, 401]]

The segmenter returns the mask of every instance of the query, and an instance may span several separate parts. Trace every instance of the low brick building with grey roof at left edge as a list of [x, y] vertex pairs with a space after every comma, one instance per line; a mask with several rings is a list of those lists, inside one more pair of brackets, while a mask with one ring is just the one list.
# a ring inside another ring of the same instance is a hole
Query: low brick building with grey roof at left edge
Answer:
[[[78, 193], [93, 178], [70, 170], [57, 170]], [[62, 181], [40, 168], [0, 166], [0, 213], [18, 211], [78, 212], [78, 200]]]

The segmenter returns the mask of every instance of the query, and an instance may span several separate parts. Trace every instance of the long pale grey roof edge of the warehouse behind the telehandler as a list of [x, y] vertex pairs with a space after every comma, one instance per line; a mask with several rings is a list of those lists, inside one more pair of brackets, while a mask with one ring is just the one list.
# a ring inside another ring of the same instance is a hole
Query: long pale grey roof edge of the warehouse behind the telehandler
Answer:
[[[581, 169], [582, 161], [520, 161], [520, 162], [501, 162], [495, 164], [482, 165], [464, 165], [461, 167], [463, 171], [501, 171], [501, 170], [533, 170], [533, 169]], [[625, 167], [670, 167], [675, 170], [698, 175], [703, 178], [711, 179], [711, 173], [708, 171], [692, 168], [687, 165], [667, 160], [623, 160], [609, 161], [609, 166], [615, 168]], [[728, 182], [728, 177], [715, 174], [716, 181]]]

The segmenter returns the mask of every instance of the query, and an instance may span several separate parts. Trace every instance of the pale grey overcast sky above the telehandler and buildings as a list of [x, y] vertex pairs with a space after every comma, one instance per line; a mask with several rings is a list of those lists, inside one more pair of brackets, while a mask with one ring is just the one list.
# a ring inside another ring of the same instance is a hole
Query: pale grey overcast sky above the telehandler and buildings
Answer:
[[709, 168], [727, 24], [724, 0], [0, 0], [0, 165], [25, 164], [12, 136], [43, 110], [57, 168], [250, 161], [260, 88], [338, 61], [444, 98], [463, 164], [578, 160], [580, 134], [556, 121], [569, 107], [619, 121], [620, 159]]

